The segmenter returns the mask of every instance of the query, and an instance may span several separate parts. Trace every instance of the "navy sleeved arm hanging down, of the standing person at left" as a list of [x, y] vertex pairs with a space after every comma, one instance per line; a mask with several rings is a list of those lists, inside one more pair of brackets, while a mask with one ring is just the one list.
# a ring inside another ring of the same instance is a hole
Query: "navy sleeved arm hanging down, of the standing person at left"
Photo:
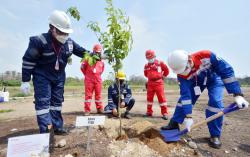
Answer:
[[29, 82], [31, 80], [31, 74], [40, 57], [39, 51], [41, 47], [42, 45], [38, 36], [30, 38], [29, 46], [22, 58], [22, 82]]

